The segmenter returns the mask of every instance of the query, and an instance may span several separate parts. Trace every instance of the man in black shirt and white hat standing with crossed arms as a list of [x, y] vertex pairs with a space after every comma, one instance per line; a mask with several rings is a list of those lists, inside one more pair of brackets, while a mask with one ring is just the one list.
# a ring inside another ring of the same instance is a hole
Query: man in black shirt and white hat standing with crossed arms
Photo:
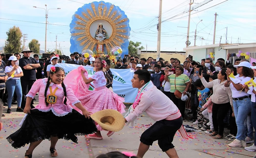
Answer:
[[[33, 52], [29, 48], [25, 47], [21, 52], [24, 54], [24, 57], [19, 60], [19, 66], [22, 68], [23, 76], [20, 77], [21, 87], [22, 87], [22, 102], [21, 108], [25, 108], [26, 105], [26, 95], [31, 89], [33, 83], [36, 81], [36, 68], [40, 67], [40, 64], [35, 58], [30, 57], [30, 53]], [[30, 107], [33, 106], [34, 101], [31, 101]]]

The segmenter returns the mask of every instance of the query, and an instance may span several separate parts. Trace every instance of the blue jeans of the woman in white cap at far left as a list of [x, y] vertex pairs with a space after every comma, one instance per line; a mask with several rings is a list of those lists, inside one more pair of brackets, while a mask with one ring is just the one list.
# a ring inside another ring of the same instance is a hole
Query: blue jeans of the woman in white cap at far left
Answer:
[[17, 79], [17, 80], [9, 79], [6, 81], [5, 85], [8, 92], [8, 99], [7, 99], [8, 108], [11, 108], [14, 91], [17, 94], [18, 107], [20, 107], [21, 101], [22, 101], [22, 88], [20, 84], [20, 79]]

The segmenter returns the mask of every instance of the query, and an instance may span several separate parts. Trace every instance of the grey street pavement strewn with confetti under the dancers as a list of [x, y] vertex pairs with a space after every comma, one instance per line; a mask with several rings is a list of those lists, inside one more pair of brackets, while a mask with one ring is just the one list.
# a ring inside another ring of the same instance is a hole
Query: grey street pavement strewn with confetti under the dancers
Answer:
[[[38, 96], [35, 97], [35, 105], [38, 104]], [[35, 106], [34, 105], [34, 106]], [[16, 105], [12, 105], [12, 110], [15, 111]], [[128, 106], [127, 106], [128, 108]], [[2, 117], [3, 128], [0, 131], [0, 157], [24, 157], [25, 151], [28, 148], [26, 144], [20, 149], [14, 149], [6, 140], [6, 137], [19, 129], [19, 122], [24, 116], [22, 112], [12, 112], [6, 114], [7, 108], [4, 109], [5, 117]], [[53, 120], [54, 121], [54, 120]], [[111, 151], [129, 151], [137, 153], [138, 146], [140, 144], [141, 134], [154, 124], [154, 120], [148, 117], [145, 112], [141, 117], [138, 117], [137, 123], [134, 127], [124, 126], [124, 128], [115, 132], [111, 137], [106, 136], [105, 131], [102, 132], [103, 140], [88, 139], [84, 136], [78, 136], [78, 144], [70, 141], [60, 139], [56, 145], [58, 152], [57, 157], [85, 157], [95, 158], [100, 154], [111, 152]], [[183, 125], [193, 124], [188, 121], [184, 121]], [[81, 125], [82, 126], [82, 125]], [[194, 125], [195, 126], [195, 125]], [[68, 127], [67, 127], [68, 128]], [[198, 157], [198, 158], [210, 158], [213, 154], [214, 157], [225, 157], [225, 158], [242, 158], [242, 157], [253, 157], [255, 152], [249, 152], [244, 148], [230, 148], [227, 144], [230, 141], [226, 139], [212, 139], [207, 134], [202, 132], [191, 132], [188, 133], [192, 136], [193, 140], [182, 139], [179, 132], [176, 133], [173, 144], [180, 158], [185, 157]], [[250, 146], [251, 144], [248, 144]], [[48, 140], [42, 141], [33, 152], [33, 158], [51, 157], [50, 142]], [[199, 151], [198, 151], [199, 150]], [[200, 152], [202, 151], [202, 152]], [[244, 154], [244, 155], [241, 155]], [[246, 156], [248, 155], [248, 156]], [[146, 152], [144, 157], [148, 158], [166, 158], [168, 157], [158, 146], [158, 142], [155, 141], [150, 149]]]

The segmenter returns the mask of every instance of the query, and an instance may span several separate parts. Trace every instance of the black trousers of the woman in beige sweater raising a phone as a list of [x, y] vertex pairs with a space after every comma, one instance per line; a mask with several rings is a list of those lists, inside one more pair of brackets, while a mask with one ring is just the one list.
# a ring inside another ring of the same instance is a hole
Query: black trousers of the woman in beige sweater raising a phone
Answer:
[[220, 136], [223, 136], [224, 131], [224, 121], [228, 110], [230, 108], [230, 103], [225, 104], [215, 104], [212, 106], [212, 123], [214, 131], [217, 132]]

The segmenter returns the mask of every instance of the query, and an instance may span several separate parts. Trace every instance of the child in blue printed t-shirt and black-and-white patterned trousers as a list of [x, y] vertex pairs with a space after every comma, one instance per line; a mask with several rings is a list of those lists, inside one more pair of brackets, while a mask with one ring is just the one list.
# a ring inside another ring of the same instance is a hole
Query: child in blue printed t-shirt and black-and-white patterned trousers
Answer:
[[208, 119], [205, 118], [204, 115], [202, 115], [201, 108], [206, 103], [206, 100], [210, 95], [210, 89], [205, 88], [200, 79], [196, 80], [194, 85], [197, 88], [197, 93], [195, 95], [195, 105], [196, 106], [198, 105], [198, 108], [197, 108], [198, 123], [197, 123], [196, 129], [201, 129], [203, 131], [206, 131], [206, 128], [207, 128], [206, 124], [208, 122]]

